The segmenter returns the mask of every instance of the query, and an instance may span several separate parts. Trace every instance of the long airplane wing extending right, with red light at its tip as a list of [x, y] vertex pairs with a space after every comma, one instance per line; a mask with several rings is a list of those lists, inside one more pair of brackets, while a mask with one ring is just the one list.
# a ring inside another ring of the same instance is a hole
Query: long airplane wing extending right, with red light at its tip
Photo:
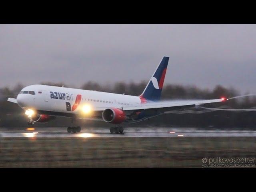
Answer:
[[140, 106], [129, 106], [124, 107], [123, 111], [134, 111], [134, 110], [158, 110], [158, 112], [168, 112], [174, 109], [190, 108], [196, 105], [208, 104], [223, 102], [227, 99], [212, 99], [212, 100], [180, 100], [180, 101], [170, 101], [170, 102], [156, 102], [156, 103], [147, 103]]

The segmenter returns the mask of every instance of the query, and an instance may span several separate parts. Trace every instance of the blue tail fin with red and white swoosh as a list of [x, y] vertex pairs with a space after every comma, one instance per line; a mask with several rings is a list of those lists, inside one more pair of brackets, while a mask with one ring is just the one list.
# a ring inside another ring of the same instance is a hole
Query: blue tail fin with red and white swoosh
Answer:
[[145, 90], [139, 96], [140, 98], [145, 98], [146, 100], [151, 100], [151, 101], [160, 100], [168, 61], [169, 61], [169, 57], [162, 58], [160, 64], [156, 68], [156, 71], [154, 72], [153, 76], [148, 82]]

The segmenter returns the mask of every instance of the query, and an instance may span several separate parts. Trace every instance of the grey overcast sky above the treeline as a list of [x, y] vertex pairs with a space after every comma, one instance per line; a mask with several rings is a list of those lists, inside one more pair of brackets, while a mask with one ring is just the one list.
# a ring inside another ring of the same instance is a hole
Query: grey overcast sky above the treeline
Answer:
[[0, 25], [0, 87], [149, 80], [256, 93], [256, 25]]

